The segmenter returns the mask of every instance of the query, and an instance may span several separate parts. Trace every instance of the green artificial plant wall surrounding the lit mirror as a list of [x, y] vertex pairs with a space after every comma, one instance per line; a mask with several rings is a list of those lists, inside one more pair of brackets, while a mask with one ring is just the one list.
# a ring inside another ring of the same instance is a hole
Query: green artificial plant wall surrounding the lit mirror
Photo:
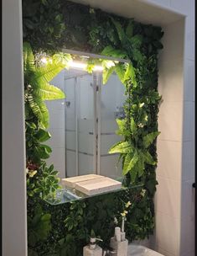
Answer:
[[[53, 166], [47, 167], [44, 163], [44, 159], [49, 157], [51, 152], [49, 147], [42, 144], [49, 139], [49, 133], [46, 131], [46, 122], [49, 117], [46, 115], [45, 123], [40, 122], [44, 120], [43, 114], [47, 113], [44, 109], [44, 100], [64, 97], [60, 91], [55, 91], [55, 88], [50, 88], [52, 92], [48, 90], [47, 95], [42, 94], [43, 85], [40, 84], [47, 83], [49, 88], [48, 82], [54, 74], [65, 67], [70, 56], [59, 53], [63, 47], [127, 58], [131, 61], [129, 65], [116, 64], [104, 69], [105, 81], [112, 72], [117, 72], [125, 85], [127, 95], [127, 101], [124, 104], [125, 117], [123, 120], [117, 120], [118, 133], [123, 139], [111, 148], [111, 152], [119, 152], [122, 157], [125, 182], [127, 184], [143, 183], [144, 190], [143, 193], [138, 193], [138, 200], [134, 200], [136, 197], [132, 196], [132, 193], [127, 194], [126, 198], [125, 195], [123, 198], [120, 195], [119, 200], [114, 198], [111, 200], [111, 196], [106, 198], [106, 213], [102, 213], [104, 216], [101, 215], [100, 221], [113, 222], [112, 219], [116, 216], [118, 207], [120, 212], [124, 208], [119, 205], [119, 201], [132, 201], [132, 210], [127, 215], [126, 224], [129, 240], [145, 238], [153, 232], [153, 195], [157, 184], [155, 140], [158, 136], [157, 119], [160, 101], [157, 89], [158, 51], [163, 47], [160, 43], [162, 36], [160, 27], [141, 24], [134, 19], [124, 19], [84, 5], [60, 0], [23, 0], [23, 40], [28, 42], [33, 50], [31, 53], [30, 46], [26, 44], [28, 72], [24, 80], [26, 147], [28, 148], [29, 253], [49, 255], [50, 252], [53, 255], [60, 255], [60, 248], [62, 246], [64, 248], [65, 242], [68, 244], [77, 241], [79, 246], [75, 254], [73, 248], [69, 249], [69, 247], [63, 254], [80, 255], [82, 246], [87, 242], [88, 233], [91, 232], [91, 223], [94, 222], [89, 221], [90, 225], [84, 227], [86, 214], [90, 212], [93, 220], [97, 218], [97, 206], [94, 200], [67, 204], [62, 206], [62, 209], [59, 207], [58, 211], [64, 211], [64, 214], [57, 216], [57, 209], [44, 205], [39, 199], [40, 192], [43, 196], [44, 193], [49, 193], [51, 188], [54, 190], [58, 187], [56, 171]], [[35, 56], [38, 56], [40, 51], [52, 56], [52, 62], [47, 67], [39, 67], [39, 64], [38, 67], [34, 67]], [[31, 56], [30, 59], [29, 56]], [[89, 62], [89, 71], [94, 64], [94, 61]], [[43, 79], [40, 78], [42, 75]], [[51, 96], [52, 94], [56, 96]], [[35, 147], [37, 147], [36, 150]], [[97, 200], [101, 204], [106, 202], [102, 197], [97, 197]], [[113, 210], [107, 213], [107, 209]], [[72, 223], [72, 220], [75, 221]], [[76, 232], [82, 228], [81, 225], [86, 230], [82, 234]], [[108, 234], [106, 232], [108, 228], [107, 225], [102, 227], [103, 234]], [[98, 231], [97, 228], [96, 232]], [[109, 239], [109, 237], [103, 238]]]

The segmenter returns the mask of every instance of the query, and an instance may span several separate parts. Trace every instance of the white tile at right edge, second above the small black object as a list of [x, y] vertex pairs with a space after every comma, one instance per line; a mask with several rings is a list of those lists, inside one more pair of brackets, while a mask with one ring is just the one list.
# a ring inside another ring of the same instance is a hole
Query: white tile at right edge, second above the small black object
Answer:
[[184, 102], [183, 141], [194, 141], [194, 102]]

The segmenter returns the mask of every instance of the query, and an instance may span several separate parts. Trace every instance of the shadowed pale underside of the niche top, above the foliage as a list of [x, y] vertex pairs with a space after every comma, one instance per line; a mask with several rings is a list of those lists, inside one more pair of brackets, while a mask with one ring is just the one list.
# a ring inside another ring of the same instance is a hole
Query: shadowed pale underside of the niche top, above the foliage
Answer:
[[90, 5], [92, 8], [101, 8], [107, 13], [114, 13], [126, 18], [134, 18], [143, 24], [167, 25], [183, 18], [174, 13], [145, 0], [71, 0], [75, 3]]

